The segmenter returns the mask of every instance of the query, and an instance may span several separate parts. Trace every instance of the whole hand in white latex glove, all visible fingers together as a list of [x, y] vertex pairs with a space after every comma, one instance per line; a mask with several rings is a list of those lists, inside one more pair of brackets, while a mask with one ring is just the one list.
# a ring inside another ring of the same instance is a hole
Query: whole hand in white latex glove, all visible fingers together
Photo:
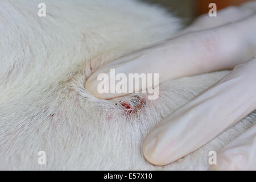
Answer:
[[[254, 7], [254, 8], [252, 8]], [[93, 96], [100, 73], [159, 73], [164, 81], [233, 69], [221, 81], [163, 119], [144, 139], [148, 162], [165, 165], [203, 146], [256, 109], [256, 2], [199, 17], [174, 38], [130, 53], [98, 69], [86, 81]], [[156, 64], [157, 63], [157, 64]], [[238, 65], [238, 66], [237, 66]], [[135, 91], [141, 87], [135, 88]], [[256, 169], [256, 126], [224, 147], [212, 169]], [[181, 137], [182, 136], [182, 137]]]

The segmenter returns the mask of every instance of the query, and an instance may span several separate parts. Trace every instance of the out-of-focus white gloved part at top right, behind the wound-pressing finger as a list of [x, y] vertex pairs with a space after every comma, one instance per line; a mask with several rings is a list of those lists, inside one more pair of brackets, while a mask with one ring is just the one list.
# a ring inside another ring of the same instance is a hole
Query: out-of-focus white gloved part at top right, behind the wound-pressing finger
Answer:
[[217, 11], [216, 17], [204, 14], [196, 18], [188, 27], [184, 28], [179, 35], [222, 26], [245, 19], [256, 13], [256, 1], [243, 3], [241, 6], [231, 6]]

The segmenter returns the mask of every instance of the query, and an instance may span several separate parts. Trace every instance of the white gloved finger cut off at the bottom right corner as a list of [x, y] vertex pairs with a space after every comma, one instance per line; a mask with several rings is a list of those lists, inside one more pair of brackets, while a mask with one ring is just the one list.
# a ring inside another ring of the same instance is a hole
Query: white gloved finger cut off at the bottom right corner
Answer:
[[256, 170], [256, 123], [217, 153], [210, 170]]

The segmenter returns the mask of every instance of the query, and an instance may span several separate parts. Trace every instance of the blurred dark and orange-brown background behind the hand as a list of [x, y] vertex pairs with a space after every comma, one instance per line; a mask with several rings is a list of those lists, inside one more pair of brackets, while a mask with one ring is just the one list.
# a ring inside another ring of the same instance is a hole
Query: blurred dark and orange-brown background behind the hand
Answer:
[[217, 10], [227, 6], [240, 5], [246, 1], [254, 0], [142, 0], [148, 3], [158, 4], [168, 11], [174, 12], [183, 18], [184, 23], [191, 23], [196, 16], [208, 13], [209, 3], [216, 3]]

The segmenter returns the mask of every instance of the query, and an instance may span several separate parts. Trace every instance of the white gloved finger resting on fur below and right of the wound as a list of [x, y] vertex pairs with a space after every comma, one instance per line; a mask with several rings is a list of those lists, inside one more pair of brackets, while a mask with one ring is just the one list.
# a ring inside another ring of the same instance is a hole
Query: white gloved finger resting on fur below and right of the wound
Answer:
[[148, 162], [165, 165], [197, 150], [256, 109], [256, 58], [163, 119], [144, 139]]

